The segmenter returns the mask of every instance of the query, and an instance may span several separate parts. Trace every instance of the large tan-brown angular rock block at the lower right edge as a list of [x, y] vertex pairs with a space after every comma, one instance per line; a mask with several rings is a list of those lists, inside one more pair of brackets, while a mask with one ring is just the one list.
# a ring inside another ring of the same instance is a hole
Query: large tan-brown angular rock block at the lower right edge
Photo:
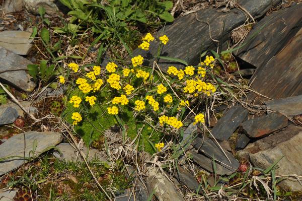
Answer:
[[[285, 130], [249, 144], [239, 151], [240, 157], [249, 160], [255, 167], [268, 168], [276, 160], [276, 176], [302, 175], [302, 127], [289, 125]], [[284, 178], [284, 177], [282, 177]], [[282, 180], [278, 185], [289, 191], [302, 191], [302, 185], [294, 177]]]

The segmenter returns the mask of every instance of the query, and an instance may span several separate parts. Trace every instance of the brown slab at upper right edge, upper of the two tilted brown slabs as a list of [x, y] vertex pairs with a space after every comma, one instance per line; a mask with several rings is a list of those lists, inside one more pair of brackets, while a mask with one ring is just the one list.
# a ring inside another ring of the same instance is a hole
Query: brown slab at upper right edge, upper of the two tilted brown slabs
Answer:
[[256, 66], [257, 71], [261, 70], [302, 26], [301, 13], [302, 4], [296, 4], [265, 16], [253, 27], [247, 38], [257, 32], [259, 34], [240, 48], [237, 55]]

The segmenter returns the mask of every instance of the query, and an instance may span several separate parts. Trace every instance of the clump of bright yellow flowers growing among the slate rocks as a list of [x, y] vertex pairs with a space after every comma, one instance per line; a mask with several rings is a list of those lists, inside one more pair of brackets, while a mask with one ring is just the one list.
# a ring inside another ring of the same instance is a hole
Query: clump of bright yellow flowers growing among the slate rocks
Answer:
[[[147, 50], [149, 43], [154, 40], [151, 34], [146, 34], [139, 48]], [[163, 46], [169, 38], [164, 35], [159, 40], [160, 46]], [[179, 136], [184, 127], [185, 114], [195, 114], [194, 124], [204, 123], [204, 114], [198, 107], [191, 106], [196, 106], [216, 92], [212, 77], [207, 76], [215, 65], [215, 59], [206, 56], [199, 65], [188, 65], [184, 69], [169, 66], [167, 74], [160, 69], [144, 66], [143, 61], [144, 58], [137, 55], [123, 65], [109, 62], [106, 66], [86, 68], [85, 73], [84, 68], [70, 63], [69, 68], [77, 76], [72, 84], [82, 96], [73, 95], [68, 100], [73, 104], [73, 111], [70, 112], [72, 124], [81, 126], [81, 122], [93, 119], [90, 108], [100, 108], [103, 116], [95, 119], [105, 119], [104, 123], [106, 121], [107, 124], [120, 124], [123, 135], [134, 139], [142, 129], [144, 135], [152, 139], [157, 133], [158, 137], [152, 141], [156, 145], [152, 146], [155, 152], [161, 151], [163, 140], [169, 136]], [[61, 77], [59, 79], [62, 80]], [[132, 133], [131, 129], [134, 130]], [[149, 143], [150, 140], [144, 142]]]

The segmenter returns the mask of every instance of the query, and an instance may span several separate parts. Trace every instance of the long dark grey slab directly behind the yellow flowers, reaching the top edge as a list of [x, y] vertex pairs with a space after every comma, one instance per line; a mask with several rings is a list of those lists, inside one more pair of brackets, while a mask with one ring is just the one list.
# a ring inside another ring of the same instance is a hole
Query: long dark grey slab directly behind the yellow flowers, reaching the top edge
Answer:
[[[276, 6], [281, 0], [259, 0], [257, 4], [250, 0], [237, 1], [255, 19], [263, 16], [266, 11]], [[196, 14], [196, 15], [195, 15]], [[196, 17], [197, 16], [197, 17]], [[226, 40], [229, 33], [244, 24], [246, 14], [238, 9], [231, 12], [217, 12], [215, 9], [205, 9], [176, 19], [173, 24], [165, 26], [156, 34], [158, 38], [162, 34], [169, 37], [169, 42], [164, 46], [162, 56], [180, 58], [187, 61], [190, 65], [197, 65], [200, 61], [200, 54], [208, 49], [216, 49], [216, 44], [211, 40]], [[211, 33], [209, 34], [209, 23]], [[211, 37], [210, 37], [211, 35]], [[222, 36], [222, 37], [221, 37]], [[223, 41], [220, 41], [222, 44]], [[148, 51], [136, 49], [133, 55], [142, 55], [145, 65], [152, 65], [157, 55], [158, 46], [161, 41], [150, 43]], [[160, 59], [159, 66], [166, 71], [168, 66], [174, 65], [183, 68], [184, 65], [175, 61]]]

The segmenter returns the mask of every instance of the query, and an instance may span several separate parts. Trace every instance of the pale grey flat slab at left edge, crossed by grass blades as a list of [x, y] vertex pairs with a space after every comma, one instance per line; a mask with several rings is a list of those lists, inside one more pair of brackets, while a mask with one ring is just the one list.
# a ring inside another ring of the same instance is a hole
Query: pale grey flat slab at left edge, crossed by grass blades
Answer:
[[[18, 134], [8, 139], [0, 145], [0, 158], [9, 158], [0, 161], [0, 176], [6, 174], [23, 165], [23, 153], [25, 157], [29, 157], [29, 153], [33, 150], [33, 144], [37, 141], [35, 156], [42, 154], [45, 149], [55, 146], [62, 141], [62, 135], [58, 132], [25, 132], [26, 147], [24, 149], [24, 135]], [[30, 155], [32, 157], [32, 153]], [[16, 158], [18, 157], [18, 158]], [[28, 160], [25, 160], [28, 162]]]

